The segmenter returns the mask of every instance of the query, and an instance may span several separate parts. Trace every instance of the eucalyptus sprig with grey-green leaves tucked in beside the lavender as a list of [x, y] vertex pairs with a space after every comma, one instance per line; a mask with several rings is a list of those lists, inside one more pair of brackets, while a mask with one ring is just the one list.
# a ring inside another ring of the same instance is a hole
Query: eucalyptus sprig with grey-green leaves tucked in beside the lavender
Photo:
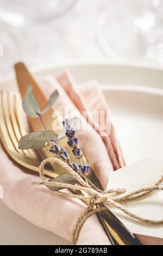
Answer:
[[[45, 148], [50, 143], [52, 145], [55, 145], [55, 148], [57, 148], [57, 154], [55, 154], [55, 156], [59, 155], [63, 161], [66, 160], [66, 162], [68, 163], [67, 159], [69, 159], [70, 157], [69, 157], [67, 151], [64, 148], [60, 149], [57, 144], [57, 141], [66, 137], [67, 130], [65, 129], [64, 131], [62, 131], [60, 133], [60, 135], [57, 135], [57, 133], [55, 133], [51, 130], [47, 130], [46, 125], [42, 119], [42, 114], [45, 114], [53, 106], [54, 102], [57, 101], [58, 97], [59, 97], [58, 90], [54, 90], [54, 92], [52, 93], [51, 97], [49, 98], [49, 100], [47, 102], [45, 109], [43, 109], [41, 111], [39, 103], [37, 102], [37, 100], [35, 99], [35, 96], [33, 95], [32, 86], [30, 84], [28, 84], [27, 93], [22, 100], [22, 106], [23, 106], [24, 112], [30, 118], [39, 118], [43, 127], [45, 128], [45, 130], [30, 132], [27, 135], [23, 136], [18, 143], [18, 148], [19, 149]], [[74, 127], [79, 126], [79, 124], [80, 124], [79, 118], [73, 118], [70, 122], [70, 125], [71, 126], [73, 125]], [[48, 150], [48, 151], [54, 153], [54, 150], [52, 150], [52, 149]], [[71, 161], [69, 161], [68, 164], [71, 165], [71, 167], [74, 169], [76, 169], [78, 166], [74, 162], [71, 164]], [[78, 168], [78, 170], [79, 170], [79, 168]], [[72, 185], [76, 184], [76, 182], [77, 182], [72, 177], [72, 175], [68, 174], [68, 173], [61, 174], [57, 178], [51, 179], [49, 181], [64, 182], [64, 183], [72, 184]], [[53, 191], [62, 189], [62, 187], [55, 187], [55, 186], [53, 186], [53, 187], [48, 186], [48, 187]]]

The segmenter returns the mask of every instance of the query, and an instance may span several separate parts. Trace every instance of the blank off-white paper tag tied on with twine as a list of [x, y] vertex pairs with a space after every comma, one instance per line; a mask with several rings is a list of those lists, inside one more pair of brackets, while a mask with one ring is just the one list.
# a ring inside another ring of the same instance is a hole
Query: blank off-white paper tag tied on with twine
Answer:
[[[163, 160], [144, 159], [112, 172], [107, 189], [125, 188], [126, 194], [128, 194], [139, 188], [154, 185], [162, 174]], [[163, 218], [163, 191], [155, 191], [145, 197], [121, 204], [130, 212], [142, 218], [150, 220], [161, 220]], [[105, 205], [132, 233], [163, 238], [163, 224], [142, 223], [126, 216], [114, 207]]]

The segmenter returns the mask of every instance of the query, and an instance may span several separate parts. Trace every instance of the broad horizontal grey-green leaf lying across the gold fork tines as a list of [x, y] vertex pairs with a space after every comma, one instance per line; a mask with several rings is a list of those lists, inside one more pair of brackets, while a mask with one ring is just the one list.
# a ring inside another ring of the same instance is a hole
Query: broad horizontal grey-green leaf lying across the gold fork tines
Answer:
[[46, 142], [56, 141], [58, 135], [53, 131], [37, 131], [31, 132], [23, 136], [18, 142], [19, 149], [39, 149], [44, 148]]

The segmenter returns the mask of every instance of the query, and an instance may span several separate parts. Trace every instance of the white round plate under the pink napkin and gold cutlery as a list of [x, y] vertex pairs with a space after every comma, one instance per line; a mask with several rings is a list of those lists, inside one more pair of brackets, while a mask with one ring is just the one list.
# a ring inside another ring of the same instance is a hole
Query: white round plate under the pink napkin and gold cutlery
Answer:
[[[112, 112], [127, 163], [145, 157], [162, 159], [163, 72], [161, 69], [122, 64], [72, 64], [34, 71], [35, 77], [57, 75], [70, 69], [77, 82], [96, 79]], [[16, 89], [15, 80], [0, 85]], [[0, 184], [1, 185], [1, 184]], [[70, 244], [61, 237], [35, 227], [0, 202], [0, 244]], [[16, 234], [15, 234], [16, 230]]]

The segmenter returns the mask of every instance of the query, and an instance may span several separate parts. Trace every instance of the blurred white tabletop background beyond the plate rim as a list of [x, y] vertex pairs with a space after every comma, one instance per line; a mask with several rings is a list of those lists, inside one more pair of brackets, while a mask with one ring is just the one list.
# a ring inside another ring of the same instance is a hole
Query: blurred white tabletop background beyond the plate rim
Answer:
[[0, 0], [0, 81], [76, 61], [163, 64], [162, 0]]

